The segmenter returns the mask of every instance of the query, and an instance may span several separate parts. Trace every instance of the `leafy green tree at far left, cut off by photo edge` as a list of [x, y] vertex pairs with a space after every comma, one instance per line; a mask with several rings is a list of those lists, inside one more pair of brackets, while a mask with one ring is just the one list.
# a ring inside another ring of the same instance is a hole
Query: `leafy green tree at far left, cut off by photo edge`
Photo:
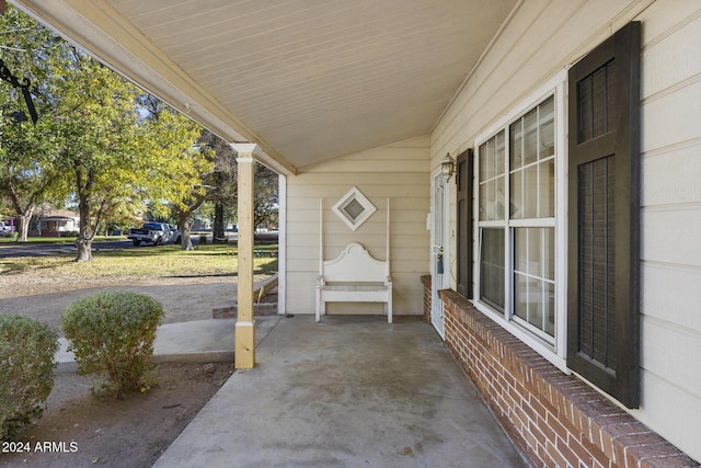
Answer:
[[16, 9], [0, 16], [0, 54], [19, 83], [30, 82], [32, 102], [42, 118], [22, 122], [28, 109], [23, 92], [0, 82], [0, 192], [16, 220], [19, 241], [25, 241], [36, 206], [67, 195], [67, 187], [51, 164], [56, 122], [46, 83], [62, 41]]

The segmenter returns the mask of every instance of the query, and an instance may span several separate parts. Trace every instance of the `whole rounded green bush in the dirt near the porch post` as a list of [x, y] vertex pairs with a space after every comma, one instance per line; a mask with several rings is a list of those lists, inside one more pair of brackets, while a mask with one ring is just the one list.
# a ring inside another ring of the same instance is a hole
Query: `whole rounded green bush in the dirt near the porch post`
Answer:
[[152, 384], [151, 357], [163, 307], [129, 292], [105, 292], [74, 301], [61, 326], [76, 354], [78, 372], [107, 376], [105, 387], [119, 398]]

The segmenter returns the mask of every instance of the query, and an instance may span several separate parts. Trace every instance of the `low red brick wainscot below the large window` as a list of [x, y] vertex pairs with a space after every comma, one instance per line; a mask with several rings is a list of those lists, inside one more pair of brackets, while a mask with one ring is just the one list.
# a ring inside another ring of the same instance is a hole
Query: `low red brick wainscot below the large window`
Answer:
[[[427, 289], [430, 316], [430, 286]], [[456, 292], [441, 290], [440, 298], [446, 345], [533, 466], [699, 466], [587, 384], [562, 373]]]

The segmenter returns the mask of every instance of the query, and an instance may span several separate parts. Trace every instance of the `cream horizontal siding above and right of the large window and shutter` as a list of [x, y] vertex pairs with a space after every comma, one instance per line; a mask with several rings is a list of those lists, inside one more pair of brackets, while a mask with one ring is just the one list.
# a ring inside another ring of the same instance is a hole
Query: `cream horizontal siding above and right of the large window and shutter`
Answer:
[[522, 2], [432, 133], [430, 165], [473, 147], [516, 103], [635, 20], [643, 32], [642, 400], [632, 414], [701, 460], [701, 2]]

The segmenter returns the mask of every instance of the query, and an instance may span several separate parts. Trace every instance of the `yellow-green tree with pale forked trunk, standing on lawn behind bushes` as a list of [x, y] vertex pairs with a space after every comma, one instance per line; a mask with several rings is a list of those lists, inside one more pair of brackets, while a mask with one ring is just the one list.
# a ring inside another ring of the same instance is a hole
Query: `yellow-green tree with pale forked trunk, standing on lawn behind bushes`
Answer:
[[60, 123], [53, 164], [78, 203], [76, 260], [88, 261], [105, 213], [149, 185], [146, 174], [157, 161], [139, 126], [140, 90], [71, 46], [53, 72], [53, 114]]

